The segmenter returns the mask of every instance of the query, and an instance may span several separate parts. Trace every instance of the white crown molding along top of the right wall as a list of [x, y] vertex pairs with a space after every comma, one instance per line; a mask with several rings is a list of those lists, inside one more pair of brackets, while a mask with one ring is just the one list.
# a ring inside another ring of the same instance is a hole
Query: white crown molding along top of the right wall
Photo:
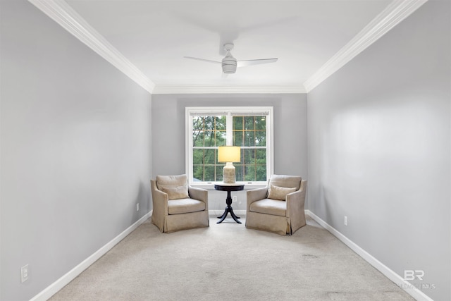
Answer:
[[428, 0], [395, 0], [304, 82], [310, 92]]

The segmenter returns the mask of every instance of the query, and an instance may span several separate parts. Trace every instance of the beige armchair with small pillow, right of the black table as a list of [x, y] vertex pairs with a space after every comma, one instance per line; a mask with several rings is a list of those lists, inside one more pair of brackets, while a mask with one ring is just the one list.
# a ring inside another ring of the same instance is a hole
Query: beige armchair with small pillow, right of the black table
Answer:
[[307, 180], [273, 175], [265, 188], [247, 191], [246, 228], [292, 235], [305, 226]]

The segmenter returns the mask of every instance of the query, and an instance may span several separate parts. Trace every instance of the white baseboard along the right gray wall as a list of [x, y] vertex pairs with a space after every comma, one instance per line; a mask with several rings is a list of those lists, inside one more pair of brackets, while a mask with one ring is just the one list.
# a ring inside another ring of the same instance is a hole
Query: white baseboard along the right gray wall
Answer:
[[363, 250], [361, 247], [359, 247], [357, 244], [352, 242], [349, 238], [347, 238], [345, 235], [342, 235], [342, 233], [338, 232], [335, 228], [330, 226], [328, 223], [323, 221], [319, 218], [319, 216], [316, 216], [313, 212], [310, 210], [306, 210], [305, 214], [310, 216], [316, 223], [319, 223], [323, 228], [325, 228], [327, 231], [329, 231], [332, 235], [334, 235], [336, 238], [341, 240], [345, 245], [350, 247], [351, 250], [359, 254], [360, 257], [362, 257], [366, 262], [374, 266], [378, 271], [380, 271], [382, 274], [384, 274], [387, 278], [389, 278], [391, 281], [393, 281], [395, 284], [400, 286], [406, 293], [414, 297], [416, 300], [421, 301], [433, 301], [431, 297], [428, 297], [425, 293], [423, 293], [421, 290], [416, 288], [414, 285], [409, 283], [408, 281], [405, 281], [404, 278], [402, 278], [400, 275], [396, 274], [393, 270], [391, 270], [388, 266], [385, 266], [382, 262], [379, 262], [378, 259], [374, 258], [371, 254]]

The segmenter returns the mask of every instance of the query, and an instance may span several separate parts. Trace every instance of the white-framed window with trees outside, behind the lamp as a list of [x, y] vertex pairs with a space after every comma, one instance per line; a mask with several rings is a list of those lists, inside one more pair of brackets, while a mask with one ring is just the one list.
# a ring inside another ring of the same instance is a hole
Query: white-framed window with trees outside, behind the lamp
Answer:
[[223, 180], [218, 147], [241, 147], [236, 180], [266, 184], [273, 169], [272, 107], [187, 107], [186, 170], [191, 185]]

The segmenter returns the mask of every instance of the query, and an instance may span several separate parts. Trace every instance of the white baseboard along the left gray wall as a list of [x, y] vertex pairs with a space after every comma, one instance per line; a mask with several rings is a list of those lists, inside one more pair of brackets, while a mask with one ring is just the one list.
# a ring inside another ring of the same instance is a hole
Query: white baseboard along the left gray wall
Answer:
[[66, 286], [70, 281], [73, 281], [73, 279], [75, 277], [80, 275], [82, 273], [82, 271], [85, 271], [85, 269], [87, 269], [91, 264], [96, 262], [97, 259], [99, 259], [104, 254], [106, 254], [106, 252], [111, 250], [115, 245], [118, 244], [118, 242], [123, 240], [125, 238], [125, 236], [132, 233], [132, 231], [134, 231], [138, 226], [140, 226], [142, 223], [144, 223], [144, 221], [147, 221], [147, 219], [149, 219], [150, 216], [152, 216], [152, 211], [150, 211], [146, 215], [142, 216], [142, 218], [139, 219], [138, 221], [136, 221], [135, 223], [133, 223], [132, 226], [125, 229], [125, 231], [123, 231], [123, 233], [119, 234], [118, 236], [116, 236], [116, 238], [113, 238], [113, 240], [106, 243], [106, 245], [104, 245], [99, 250], [97, 250], [97, 252], [95, 252], [91, 256], [87, 257], [87, 259], [83, 260], [80, 264], [78, 264], [78, 266], [75, 266], [75, 268], [68, 271], [65, 275], [63, 275], [57, 281], [55, 281], [54, 283], [51, 283], [51, 285], [49, 285], [47, 288], [42, 290], [41, 293], [35, 295], [35, 297], [32, 297], [32, 299], [30, 299], [30, 301], [45, 301], [45, 300], [48, 300], [51, 296], [58, 293], [58, 291], [61, 290], [61, 288]]

